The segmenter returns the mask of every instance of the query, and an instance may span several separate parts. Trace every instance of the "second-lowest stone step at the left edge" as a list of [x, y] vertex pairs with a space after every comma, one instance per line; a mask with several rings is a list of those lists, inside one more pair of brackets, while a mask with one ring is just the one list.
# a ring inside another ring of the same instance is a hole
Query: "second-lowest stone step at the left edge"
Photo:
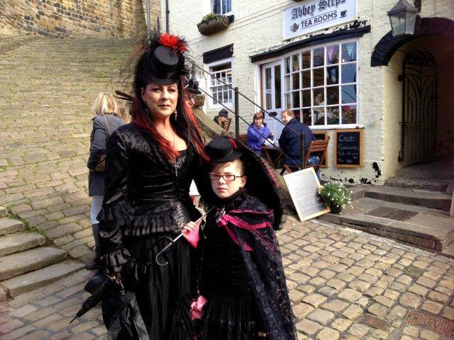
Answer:
[[65, 259], [67, 251], [41, 246], [0, 257], [0, 280], [35, 271]]

